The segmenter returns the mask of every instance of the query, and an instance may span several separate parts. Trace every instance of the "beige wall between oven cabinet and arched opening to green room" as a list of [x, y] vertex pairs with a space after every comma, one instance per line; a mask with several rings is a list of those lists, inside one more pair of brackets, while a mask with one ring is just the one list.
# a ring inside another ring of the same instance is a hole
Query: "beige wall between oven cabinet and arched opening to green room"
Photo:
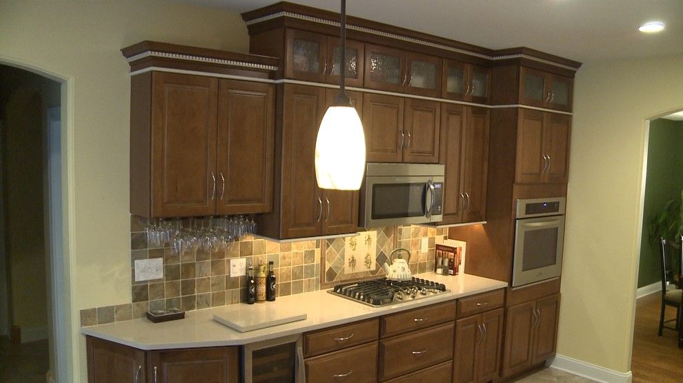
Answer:
[[631, 371], [645, 120], [682, 90], [683, 55], [577, 74], [557, 353]]

